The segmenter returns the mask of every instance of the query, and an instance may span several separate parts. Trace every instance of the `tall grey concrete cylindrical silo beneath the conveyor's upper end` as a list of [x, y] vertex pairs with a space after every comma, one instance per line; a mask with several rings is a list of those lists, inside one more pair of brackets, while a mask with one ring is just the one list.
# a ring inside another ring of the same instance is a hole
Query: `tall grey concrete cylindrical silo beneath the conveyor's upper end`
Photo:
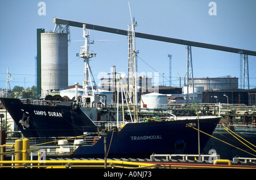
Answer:
[[68, 34], [41, 34], [42, 97], [51, 90], [68, 88]]

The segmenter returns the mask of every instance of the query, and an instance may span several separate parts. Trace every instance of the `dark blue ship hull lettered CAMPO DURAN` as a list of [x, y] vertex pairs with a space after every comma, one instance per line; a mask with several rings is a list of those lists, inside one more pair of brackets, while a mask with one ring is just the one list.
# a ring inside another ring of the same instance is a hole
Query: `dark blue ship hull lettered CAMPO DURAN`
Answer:
[[[27, 100], [29, 101], [29, 100]], [[84, 132], [97, 132], [97, 126], [72, 102], [2, 98], [1, 102], [25, 137], [75, 137]]]

